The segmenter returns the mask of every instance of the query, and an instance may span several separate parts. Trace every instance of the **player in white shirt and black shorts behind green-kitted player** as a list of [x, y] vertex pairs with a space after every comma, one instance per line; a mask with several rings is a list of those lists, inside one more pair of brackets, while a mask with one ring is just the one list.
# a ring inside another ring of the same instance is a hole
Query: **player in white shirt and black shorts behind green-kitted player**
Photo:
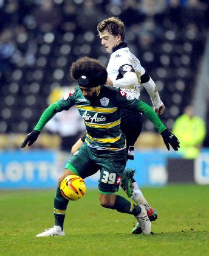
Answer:
[[[165, 105], [160, 99], [156, 84], [146, 73], [139, 59], [131, 53], [127, 43], [125, 43], [125, 26], [123, 22], [118, 18], [111, 17], [101, 21], [97, 26], [97, 30], [101, 38], [101, 44], [105, 46], [106, 52], [111, 53], [107, 67], [107, 84], [113, 87], [120, 87], [128, 94], [129, 99], [139, 99], [140, 85], [142, 85], [151, 98], [155, 112], [161, 115], [165, 110]], [[134, 159], [134, 143], [140, 135], [142, 123], [141, 113], [122, 110], [121, 129], [126, 136], [128, 159]], [[130, 172], [130, 170], [128, 171]], [[131, 199], [136, 204], [145, 205], [151, 221], [157, 219], [156, 210], [149, 206], [134, 179], [132, 179]], [[139, 223], [134, 227], [132, 233], [141, 233]]]

